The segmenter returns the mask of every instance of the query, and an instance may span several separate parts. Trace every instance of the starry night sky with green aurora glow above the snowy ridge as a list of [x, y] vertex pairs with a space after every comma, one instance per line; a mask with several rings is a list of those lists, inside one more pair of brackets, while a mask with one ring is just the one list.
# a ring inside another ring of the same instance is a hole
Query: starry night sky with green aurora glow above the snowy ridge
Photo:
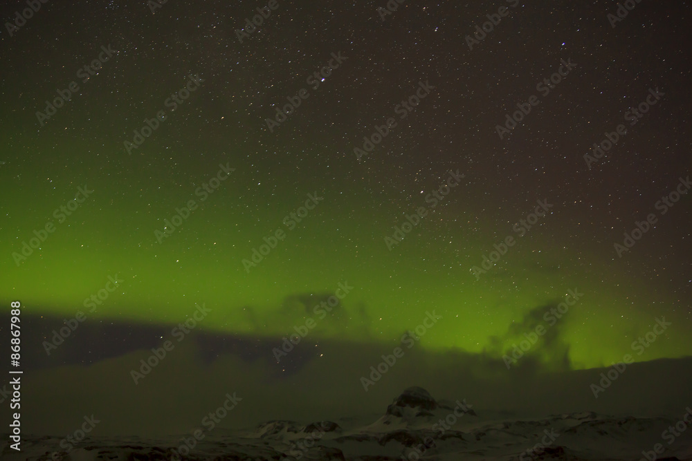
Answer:
[[[273, 0], [247, 26], [266, 5], [48, 1], [17, 28], [26, 3], [0, 7], [0, 301], [24, 306], [30, 408], [137, 433], [149, 413], [116, 406], [198, 392], [203, 414], [237, 390], [255, 392], [239, 415], [271, 419], [415, 379], [454, 394], [450, 368], [499, 389], [628, 352], [689, 367], [689, 1]], [[411, 335], [406, 372], [363, 392]]]

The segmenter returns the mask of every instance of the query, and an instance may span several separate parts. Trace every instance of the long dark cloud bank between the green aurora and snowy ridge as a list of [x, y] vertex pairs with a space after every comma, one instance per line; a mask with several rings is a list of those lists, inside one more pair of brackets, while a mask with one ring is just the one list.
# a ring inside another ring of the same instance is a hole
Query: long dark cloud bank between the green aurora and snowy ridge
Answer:
[[[550, 307], [554, 304], [527, 312], [495, 344], [534, 328]], [[23, 321], [46, 333], [58, 326], [55, 319], [25, 316]], [[692, 358], [631, 364], [595, 398], [590, 385], [599, 383], [607, 369], [569, 370], [567, 361], [560, 361], [567, 349], [559, 323], [545, 335], [543, 344], [536, 345], [538, 352], [509, 370], [497, 350], [430, 351], [419, 343], [408, 348], [399, 341], [343, 339], [306, 339], [277, 363], [272, 350], [280, 345], [280, 338], [225, 335], [200, 328], [174, 343], [174, 350], [134, 384], [132, 371], [152, 355], [152, 347], [161, 347], [161, 335], [165, 337], [170, 328], [85, 322], [60, 346], [60, 355], [51, 357], [41, 348], [39, 335], [31, 335], [32, 328], [27, 328], [27, 349], [32, 350], [27, 352], [22, 377], [27, 433], [68, 433], [75, 422], [92, 413], [102, 420], [100, 434], [186, 433], [199, 426], [203, 415], [217, 408], [226, 393], [233, 392], [243, 400], [224, 420], [224, 427], [363, 414], [372, 414], [374, 420], [408, 386], [422, 386], [436, 398], [465, 398], [480, 415], [502, 412], [531, 417], [572, 411], [675, 415], [680, 405], [692, 402]], [[138, 341], [130, 340], [134, 332]], [[86, 348], [94, 344], [93, 335], [101, 335], [100, 343], [108, 344], [98, 359], [94, 357], [98, 350]], [[37, 346], [31, 348], [32, 343]], [[403, 356], [366, 392], [361, 377], [370, 377], [370, 366], [377, 367], [382, 356], [392, 354], [397, 346]], [[549, 348], [556, 351], [545, 352]], [[545, 361], [556, 366], [546, 367]], [[0, 382], [0, 389], [2, 384], [6, 383]], [[46, 413], [51, 417], [46, 418]]]

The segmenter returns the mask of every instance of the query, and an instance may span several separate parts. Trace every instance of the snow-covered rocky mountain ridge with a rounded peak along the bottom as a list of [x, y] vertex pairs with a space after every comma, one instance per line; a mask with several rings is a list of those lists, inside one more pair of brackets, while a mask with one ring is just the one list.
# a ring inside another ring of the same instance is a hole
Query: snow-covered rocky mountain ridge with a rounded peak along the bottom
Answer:
[[[275, 420], [244, 431], [217, 429], [201, 440], [88, 438], [69, 453], [62, 438], [5, 444], [2, 460], [692, 460], [692, 430], [664, 418], [597, 413], [513, 420], [477, 414], [463, 401], [403, 391], [381, 417], [300, 424]], [[675, 428], [677, 436], [668, 431]], [[687, 424], [685, 427], [689, 426]], [[671, 440], [672, 439], [672, 440]], [[5, 438], [7, 440], [7, 438]], [[194, 443], [193, 443], [194, 442]], [[658, 444], [658, 445], [657, 445]], [[662, 453], [655, 453], [657, 446]], [[179, 453], [179, 454], [176, 454]], [[655, 458], [657, 456], [657, 458]]]

